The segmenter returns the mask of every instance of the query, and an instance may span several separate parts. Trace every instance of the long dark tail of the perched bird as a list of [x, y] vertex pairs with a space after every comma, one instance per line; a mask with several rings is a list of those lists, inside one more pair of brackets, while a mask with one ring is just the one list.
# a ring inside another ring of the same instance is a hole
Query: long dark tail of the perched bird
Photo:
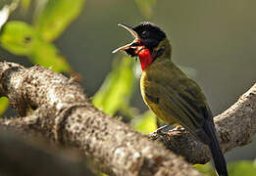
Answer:
[[210, 137], [209, 148], [213, 156], [214, 165], [219, 176], [228, 176], [227, 163], [218, 141], [214, 123], [207, 120], [204, 125], [207, 136]]

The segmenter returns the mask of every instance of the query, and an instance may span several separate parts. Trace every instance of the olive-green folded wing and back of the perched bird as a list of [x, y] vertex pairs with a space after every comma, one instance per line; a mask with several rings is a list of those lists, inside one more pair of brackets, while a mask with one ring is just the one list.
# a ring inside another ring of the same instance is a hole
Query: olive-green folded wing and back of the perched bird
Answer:
[[205, 120], [211, 117], [200, 87], [177, 66], [164, 64], [161, 69], [149, 71], [145, 92], [158, 98], [157, 106], [165, 115], [162, 118], [176, 118], [188, 131], [200, 136]]

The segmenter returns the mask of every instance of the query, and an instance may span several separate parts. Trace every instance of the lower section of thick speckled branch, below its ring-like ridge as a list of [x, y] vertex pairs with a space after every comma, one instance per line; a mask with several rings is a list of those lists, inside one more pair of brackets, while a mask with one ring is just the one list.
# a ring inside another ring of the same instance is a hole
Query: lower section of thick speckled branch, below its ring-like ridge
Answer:
[[161, 145], [152, 144], [119, 120], [105, 120], [109, 117], [94, 108], [90, 108], [89, 113], [84, 111], [86, 108], [72, 111], [65, 123], [62, 141], [79, 146], [93, 157], [101, 170], [117, 175], [186, 175], [189, 172], [180, 157], [167, 153]]

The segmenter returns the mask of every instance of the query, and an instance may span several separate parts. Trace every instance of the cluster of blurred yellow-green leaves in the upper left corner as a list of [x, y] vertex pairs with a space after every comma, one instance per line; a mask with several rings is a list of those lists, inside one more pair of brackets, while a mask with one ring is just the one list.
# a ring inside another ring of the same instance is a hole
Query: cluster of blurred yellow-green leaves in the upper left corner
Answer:
[[[39, 1], [35, 1], [40, 3]], [[34, 13], [34, 24], [26, 22], [6, 22], [0, 35], [1, 46], [9, 52], [26, 56], [33, 64], [51, 67], [57, 72], [72, 73], [67, 60], [50, 43], [73, 22], [83, 8], [84, 0], [54, 0]], [[30, 1], [21, 1], [24, 10]]]

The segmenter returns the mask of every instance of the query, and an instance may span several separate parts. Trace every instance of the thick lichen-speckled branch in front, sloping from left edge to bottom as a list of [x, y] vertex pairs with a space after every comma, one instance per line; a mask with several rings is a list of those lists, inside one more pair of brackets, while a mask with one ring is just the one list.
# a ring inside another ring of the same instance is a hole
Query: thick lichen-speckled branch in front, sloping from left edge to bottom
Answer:
[[73, 80], [41, 66], [0, 63], [0, 95], [22, 117], [0, 124], [41, 132], [112, 175], [200, 175], [180, 156], [96, 110]]

